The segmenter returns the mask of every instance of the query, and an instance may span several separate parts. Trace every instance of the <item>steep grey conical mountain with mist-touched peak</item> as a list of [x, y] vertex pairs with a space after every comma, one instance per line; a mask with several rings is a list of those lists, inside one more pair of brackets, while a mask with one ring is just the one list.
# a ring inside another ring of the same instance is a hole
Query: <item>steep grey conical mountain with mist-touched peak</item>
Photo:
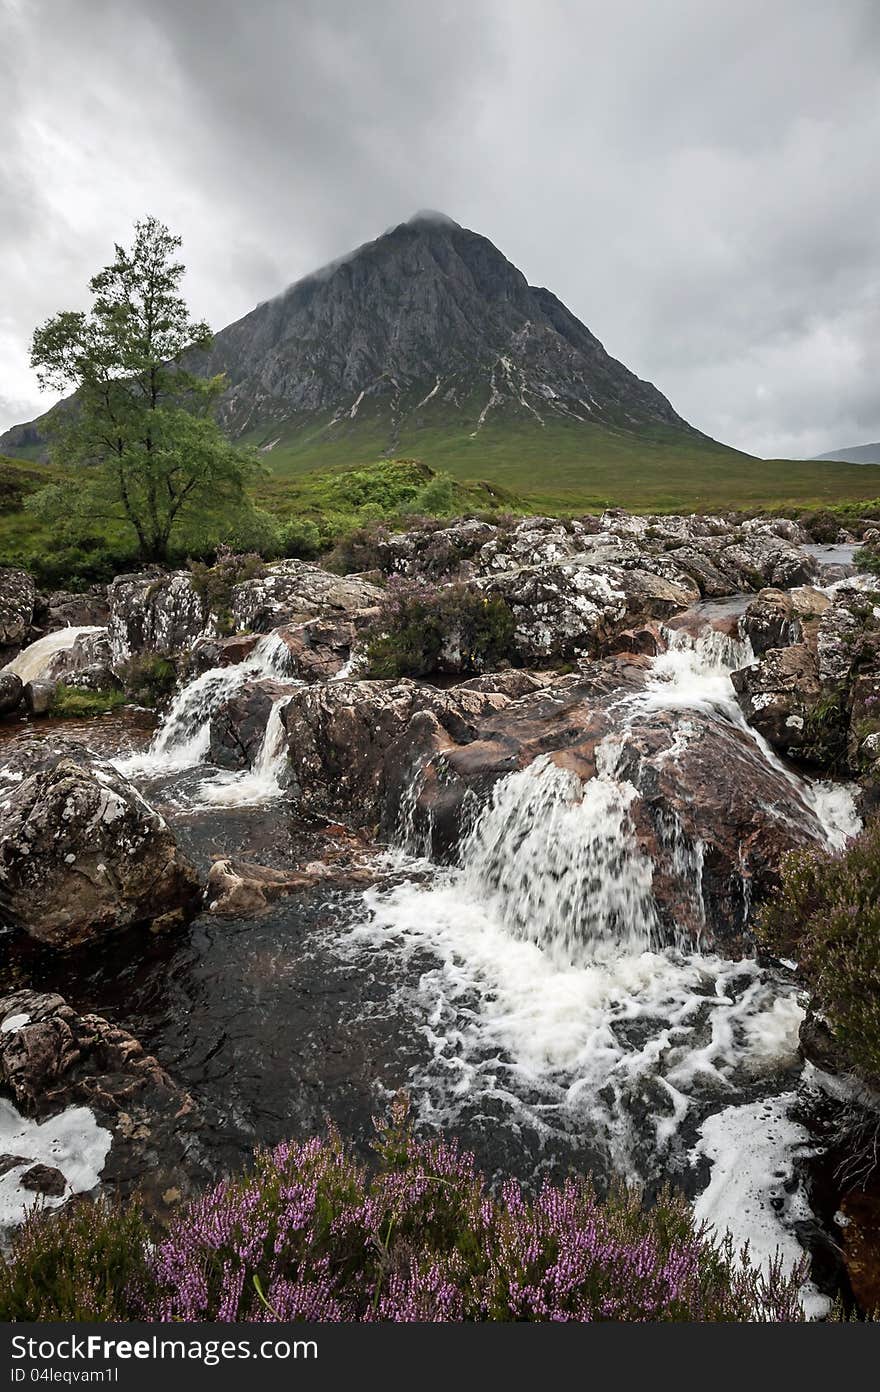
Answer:
[[[418, 213], [223, 329], [199, 370], [278, 472], [419, 455], [462, 475], [730, 454], [485, 237]], [[45, 419], [45, 418], [43, 418]], [[0, 437], [39, 457], [42, 420]], [[510, 482], [514, 480], [512, 476]], [[521, 482], [521, 480], [519, 480]]]

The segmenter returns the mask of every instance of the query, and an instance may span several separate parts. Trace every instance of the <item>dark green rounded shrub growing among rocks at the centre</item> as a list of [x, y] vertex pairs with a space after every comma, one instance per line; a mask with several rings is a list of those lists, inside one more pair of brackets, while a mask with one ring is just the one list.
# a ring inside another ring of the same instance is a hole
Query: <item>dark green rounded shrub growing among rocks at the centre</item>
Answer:
[[514, 615], [498, 597], [487, 599], [465, 585], [391, 578], [368, 642], [369, 675], [487, 671], [515, 656], [514, 626]]

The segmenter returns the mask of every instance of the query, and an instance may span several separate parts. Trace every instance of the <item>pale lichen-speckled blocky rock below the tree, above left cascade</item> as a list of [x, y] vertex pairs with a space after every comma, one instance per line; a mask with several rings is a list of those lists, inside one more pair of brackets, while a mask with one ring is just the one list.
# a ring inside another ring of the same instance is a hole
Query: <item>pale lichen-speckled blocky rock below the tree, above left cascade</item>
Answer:
[[191, 647], [210, 618], [188, 571], [118, 575], [107, 603], [117, 665], [138, 653], [171, 657]]

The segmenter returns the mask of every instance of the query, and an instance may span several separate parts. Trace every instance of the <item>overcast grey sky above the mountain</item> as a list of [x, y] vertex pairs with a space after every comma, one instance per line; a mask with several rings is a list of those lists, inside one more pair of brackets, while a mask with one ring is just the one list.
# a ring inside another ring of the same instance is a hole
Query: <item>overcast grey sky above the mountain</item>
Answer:
[[0, 0], [0, 430], [155, 213], [220, 329], [416, 209], [709, 434], [880, 440], [877, 0]]

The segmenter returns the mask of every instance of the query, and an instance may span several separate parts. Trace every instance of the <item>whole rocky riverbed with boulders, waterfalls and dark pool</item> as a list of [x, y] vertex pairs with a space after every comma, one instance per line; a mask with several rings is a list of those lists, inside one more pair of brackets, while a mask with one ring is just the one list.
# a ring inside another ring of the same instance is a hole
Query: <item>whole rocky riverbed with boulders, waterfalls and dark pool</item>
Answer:
[[[671, 1179], [845, 1286], [805, 1002], [751, 930], [788, 849], [876, 806], [855, 548], [613, 511], [387, 535], [369, 574], [281, 561], [214, 608], [189, 572], [7, 572], [0, 1221], [35, 1165], [46, 1203], [168, 1211], [324, 1115], [366, 1143], [405, 1087], [490, 1173]], [[390, 582], [500, 601], [501, 665], [451, 625], [430, 678], [370, 677]], [[155, 729], [33, 714], [155, 658]]]

